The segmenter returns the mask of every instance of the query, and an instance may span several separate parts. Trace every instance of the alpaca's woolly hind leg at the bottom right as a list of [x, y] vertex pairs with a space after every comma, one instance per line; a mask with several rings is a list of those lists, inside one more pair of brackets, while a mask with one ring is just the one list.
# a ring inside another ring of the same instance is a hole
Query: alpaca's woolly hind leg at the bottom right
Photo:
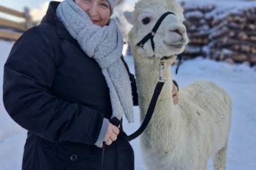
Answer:
[[226, 169], [226, 149], [227, 144], [221, 148], [214, 156], [213, 167], [214, 170], [225, 170]]

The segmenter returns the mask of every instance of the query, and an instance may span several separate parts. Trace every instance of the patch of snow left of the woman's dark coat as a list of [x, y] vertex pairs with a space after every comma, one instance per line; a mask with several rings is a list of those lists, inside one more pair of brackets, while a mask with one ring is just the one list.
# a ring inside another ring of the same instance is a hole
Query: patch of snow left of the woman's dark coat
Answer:
[[[3, 84], [3, 65], [10, 53], [13, 43], [0, 40], [0, 83]], [[3, 94], [2, 88], [0, 90]], [[2, 97], [0, 102], [0, 169], [18, 170], [21, 169], [23, 147], [26, 141], [26, 130], [20, 128], [5, 111]]]

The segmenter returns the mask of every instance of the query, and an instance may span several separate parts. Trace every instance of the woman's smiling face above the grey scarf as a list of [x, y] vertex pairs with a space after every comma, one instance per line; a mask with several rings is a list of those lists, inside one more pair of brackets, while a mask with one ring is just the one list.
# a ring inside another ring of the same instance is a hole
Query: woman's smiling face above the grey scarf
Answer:
[[110, 6], [106, 0], [74, 0], [86, 12], [93, 24], [103, 27], [110, 18]]

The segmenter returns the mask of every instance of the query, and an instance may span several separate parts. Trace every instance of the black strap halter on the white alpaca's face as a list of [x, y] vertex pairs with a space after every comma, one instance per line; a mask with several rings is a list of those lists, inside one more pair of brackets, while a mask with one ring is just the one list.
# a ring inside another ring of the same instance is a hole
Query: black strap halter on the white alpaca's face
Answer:
[[[162, 23], [162, 21], [164, 20], [164, 18], [166, 18], [167, 15], [169, 14], [174, 14], [173, 12], [166, 12], [164, 13], [158, 20], [158, 22], [156, 22], [155, 27], [152, 29], [152, 31], [150, 33], [148, 33], [141, 41], [138, 42], [138, 46], [141, 46], [143, 48], [144, 44], [147, 42], [147, 40], [151, 40], [151, 46], [153, 51], [155, 52], [155, 42], [154, 42], [154, 36], [156, 31], [158, 30], [160, 24]], [[175, 14], [174, 14], [175, 15]]]

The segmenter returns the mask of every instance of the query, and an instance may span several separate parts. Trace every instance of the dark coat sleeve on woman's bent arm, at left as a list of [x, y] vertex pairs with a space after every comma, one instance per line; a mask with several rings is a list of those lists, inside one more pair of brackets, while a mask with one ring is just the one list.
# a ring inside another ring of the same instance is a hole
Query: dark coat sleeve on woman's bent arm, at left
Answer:
[[54, 46], [37, 27], [16, 41], [4, 66], [6, 111], [24, 129], [48, 141], [94, 145], [104, 114], [59, 100], [49, 91], [55, 75]]

